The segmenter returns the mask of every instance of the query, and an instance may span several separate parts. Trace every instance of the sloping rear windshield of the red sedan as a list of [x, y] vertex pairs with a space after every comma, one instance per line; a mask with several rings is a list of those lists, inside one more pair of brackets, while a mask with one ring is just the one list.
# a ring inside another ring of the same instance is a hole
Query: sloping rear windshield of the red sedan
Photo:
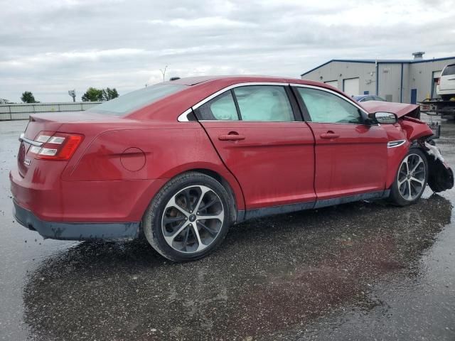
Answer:
[[105, 103], [98, 104], [95, 107], [88, 109], [87, 112], [123, 116], [136, 109], [152, 104], [170, 94], [175, 94], [186, 87], [186, 85], [179, 84], [151, 85], [150, 87], [144, 87], [144, 89], [129, 92], [128, 94], [111, 99]]

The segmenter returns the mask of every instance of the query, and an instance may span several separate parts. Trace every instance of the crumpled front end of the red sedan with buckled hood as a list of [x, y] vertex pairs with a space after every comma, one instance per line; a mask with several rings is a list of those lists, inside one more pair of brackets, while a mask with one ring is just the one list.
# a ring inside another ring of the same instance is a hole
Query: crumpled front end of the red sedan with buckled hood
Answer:
[[[436, 129], [420, 120], [419, 106], [390, 102], [365, 102], [363, 107], [370, 113], [391, 112], [397, 116], [394, 124], [399, 134], [410, 142], [407, 148], [419, 148], [427, 156], [429, 174], [427, 184], [434, 193], [449, 190], [454, 187], [454, 173], [444, 161], [441, 151], [437, 148], [434, 139], [439, 138], [440, 126]], [[397, 139], [397, 131], [389, 131], [392, 139]]]

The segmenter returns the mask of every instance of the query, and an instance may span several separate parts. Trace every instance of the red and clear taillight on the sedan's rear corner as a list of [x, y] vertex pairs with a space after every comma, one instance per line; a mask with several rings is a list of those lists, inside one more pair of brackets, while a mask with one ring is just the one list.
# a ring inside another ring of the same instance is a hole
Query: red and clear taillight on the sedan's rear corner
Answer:
[[32, 145], [28, 152], [43, 160], [69, 160], [83, 138], [84, 136], [79, 134], [41, 131], [35, 139], [40, 145]]

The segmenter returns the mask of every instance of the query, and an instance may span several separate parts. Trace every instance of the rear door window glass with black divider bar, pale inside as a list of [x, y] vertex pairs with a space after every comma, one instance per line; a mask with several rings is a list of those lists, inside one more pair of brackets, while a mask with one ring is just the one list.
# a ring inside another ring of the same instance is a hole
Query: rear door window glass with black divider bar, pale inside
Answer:
[[286, 90], [274, 85], [236, 87], [200, 106], [196, 116], [202, 120], [294, 121]]

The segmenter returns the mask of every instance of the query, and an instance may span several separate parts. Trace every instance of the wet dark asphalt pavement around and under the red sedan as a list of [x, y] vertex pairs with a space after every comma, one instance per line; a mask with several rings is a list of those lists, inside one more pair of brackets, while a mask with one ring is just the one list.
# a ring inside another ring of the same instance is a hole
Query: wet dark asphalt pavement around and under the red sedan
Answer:
[[[0, 340], [455, 340], [455, 190], [245, 222], [200, 261], [14, 222], [0, 122]], [[439, 146], [455, 166], [455, 124]]]

